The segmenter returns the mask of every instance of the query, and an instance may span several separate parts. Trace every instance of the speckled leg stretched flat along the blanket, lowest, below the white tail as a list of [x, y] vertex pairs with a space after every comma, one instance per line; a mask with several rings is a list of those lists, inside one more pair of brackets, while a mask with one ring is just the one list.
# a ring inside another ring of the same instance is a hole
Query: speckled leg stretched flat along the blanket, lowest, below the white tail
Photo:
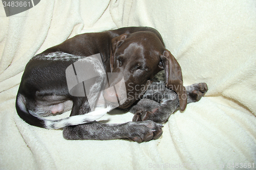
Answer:
[[124, 124], [88, 124], [63, 128], [63, 137], [69, 140], [111, 140], [129, 138], [142, 142], [158, 139], [162, 135], [162, 125], [147, 120], [144, 122], [127, 122]]

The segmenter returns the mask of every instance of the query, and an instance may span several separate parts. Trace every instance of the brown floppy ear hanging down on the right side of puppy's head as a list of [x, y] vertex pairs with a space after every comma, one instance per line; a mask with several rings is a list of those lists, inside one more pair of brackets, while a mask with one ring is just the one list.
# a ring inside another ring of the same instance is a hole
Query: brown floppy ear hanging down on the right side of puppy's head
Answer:
[[187, 93], [183, 86], [180, 64], [168, 50], [165, 50], [160, 58], [165, 72], [165, 84], [178, 94], [180, 109], [183, 111], [187, 106]]

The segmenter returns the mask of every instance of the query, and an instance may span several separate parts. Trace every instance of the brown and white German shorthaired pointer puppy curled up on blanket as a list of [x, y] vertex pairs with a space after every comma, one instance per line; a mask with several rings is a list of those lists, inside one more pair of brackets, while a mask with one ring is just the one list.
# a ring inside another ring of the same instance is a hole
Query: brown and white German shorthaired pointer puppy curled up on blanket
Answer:
[[[103, 67], [100, 67], [93, 58], [88, 57], [96, 54], [100, 54]], [[33, 126], [47, 129], [63, 128], [63, 137], [72, 140], [129, 138], [142, 142], [161, 136], [162, 125], [156, 122], [164, 122], [168, 117], [165, 115], [163, 118], [154, 118], [154, 115], [159, 117], [161, 104], [156, 105], [159, 111], [153, 109], [142, 115], [136, 113], [134, 120], [143, 121], [124, 124], [102, 124], [94, 121], [112, 107], [94, 111], [94, 104], [90, 104], [87, 95], [70, 94], [66, 69], [70, 65], [74, 67], [74, 63], [80, 60], [99, 68], [96, 70], [99, 81], [92, 84], [92, 87], [100, 87], [101, 82], [105, 81], [102, 72], [120, 75], [108, 80], [108, 86], [115, 86], [114, 90], [105, 88], [101, 97], [93, 99], [91, 103], [97, 103], [96, 101], [103, 96], [104, 101], [111, 105], [116, 102], [118, 94], [120, 101], [123, 100], [119, 108], [130, 107], [137, 100], [135, 95], [143, 96], [152, 84], [153, 77], [160, 70], [164, 70], [164, 84], [178, 95], [175, 108], [178, 105], [181, 110], [186, 108], [187, 92], [183, 87], [180, 65], [165, 48], [161, 35], [153, 28], [129, 27], [101, 33], [80, 34], [34, 56], [25, 68], [18, 89], [16, 98], [18, 115]], [[87, 72], [83, 74], [86, 75]], [[122, 78], [125, 93], [122, 92], [123, 86], [118, 85]], [[89, 95], [91, 94], [93, 92]], [[147, 98], [147, 94], [144, 96]], [[67, 110], [71, 110], [68, 118], [49, 120], [44, 117]]]

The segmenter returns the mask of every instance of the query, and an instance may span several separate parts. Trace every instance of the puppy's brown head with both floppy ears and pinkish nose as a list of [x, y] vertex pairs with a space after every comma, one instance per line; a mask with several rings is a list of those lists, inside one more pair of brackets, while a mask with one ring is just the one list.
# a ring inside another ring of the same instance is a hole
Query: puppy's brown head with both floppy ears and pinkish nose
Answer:
[[[120, 108], [131, 106], [151, 85], [157, 72], [164, 69], [166, 86], [178, 93], [180, 108], [185, 109], [187, 98], [181, 67], [154, 33], [143, 31], [113, 38], [110, 65], [111, 71], [118, 74], [109, 80], [115, 89], [103, 93], [106, 101], [116, 101], [118, 94]], [[125, 87], [118, 85], [122, 79]]]

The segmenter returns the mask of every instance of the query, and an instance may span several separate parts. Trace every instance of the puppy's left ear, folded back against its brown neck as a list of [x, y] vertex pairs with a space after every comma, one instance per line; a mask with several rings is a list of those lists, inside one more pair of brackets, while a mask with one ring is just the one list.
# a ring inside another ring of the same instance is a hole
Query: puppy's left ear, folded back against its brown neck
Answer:
[[127, 36], [128, 36], [128, 34], [122, 34], [122, 35], [115, 37], [111, 40], [111, 42], [112, 42], [112, 51], [111, 51], [111, 56], [110, 56], [111, 71], [114, 68], [116, 51], [122, 45], [122, 43], [124, 42], [124, 39], [126, 39]]

